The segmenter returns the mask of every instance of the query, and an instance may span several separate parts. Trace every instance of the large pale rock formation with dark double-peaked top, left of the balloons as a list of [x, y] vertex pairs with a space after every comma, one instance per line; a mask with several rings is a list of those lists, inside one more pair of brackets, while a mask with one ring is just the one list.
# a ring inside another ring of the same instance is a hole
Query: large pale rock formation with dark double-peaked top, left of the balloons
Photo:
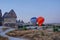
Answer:
[[17, 27], [16, 18], [17, 16], [13, 9], [10, 12], [5, 12], [3, 15], [3, 26]]

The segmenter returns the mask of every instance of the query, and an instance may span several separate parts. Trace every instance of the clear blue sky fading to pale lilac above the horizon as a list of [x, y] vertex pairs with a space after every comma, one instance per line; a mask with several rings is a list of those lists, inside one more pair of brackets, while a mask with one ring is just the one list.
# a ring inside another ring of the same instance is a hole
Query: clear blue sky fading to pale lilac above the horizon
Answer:
[[2, 14], [14, 9], [17, 19], [29, 22], [44, 17], [44, 23], [60, 23], [60, 0], [0, 0]]

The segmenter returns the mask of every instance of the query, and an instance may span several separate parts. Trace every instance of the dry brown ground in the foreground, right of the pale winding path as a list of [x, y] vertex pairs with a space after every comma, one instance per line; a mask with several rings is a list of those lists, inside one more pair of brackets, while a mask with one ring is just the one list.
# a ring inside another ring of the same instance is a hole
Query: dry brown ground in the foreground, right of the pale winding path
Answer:
[[14, 30], [6, 34], [13, 37], [29, 38], [29, 40], [60, 40], [60, 32], [47, 30]]

